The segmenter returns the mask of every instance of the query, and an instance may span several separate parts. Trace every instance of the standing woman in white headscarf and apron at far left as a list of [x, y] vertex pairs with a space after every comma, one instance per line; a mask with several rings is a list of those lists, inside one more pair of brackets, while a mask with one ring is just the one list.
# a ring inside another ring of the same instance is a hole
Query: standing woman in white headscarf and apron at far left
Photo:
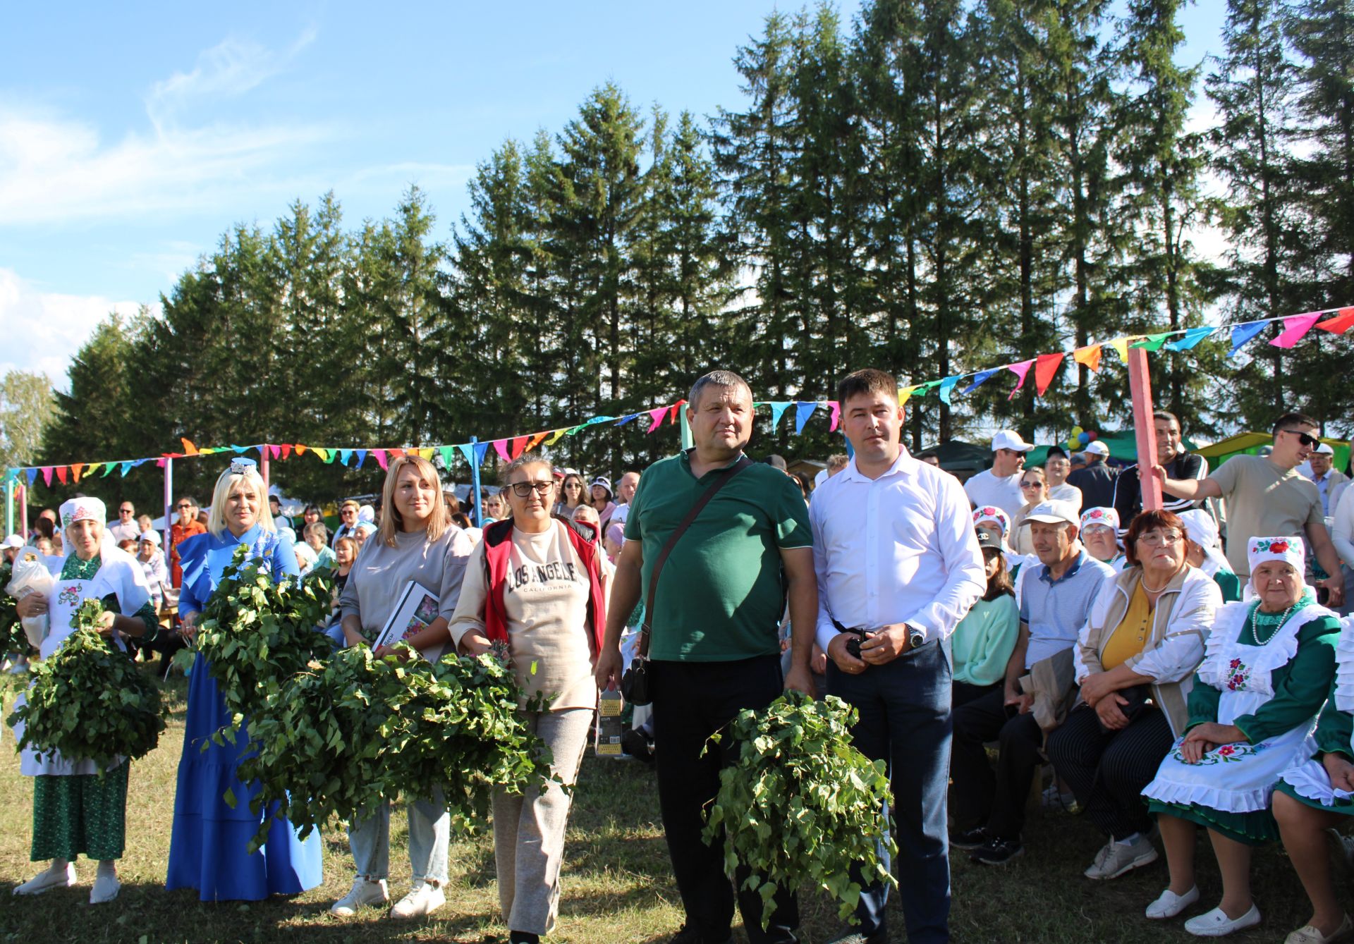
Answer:
[[[104, 543], [106, 515], [97, 498], [72, 498], [61, 505], [64, 546], [69, 553], [53, 562], [57, 580], [50, 593], [34, 593], [18, 603], [19, 616], [50, 615], [50, 628], [38, 646], [42, 658], [56, 653], [74, 632], [76, 611], [87, 599], [103, 603], [99, 618], [103, 635], [116, 639], [122, 632], [153, 639], [158, 631], [141, 565], [126, 551]], [[15, 735], [22, 737], [20, 727]], [[74, 884], [74, 859], [84, 853], [99, 863], [89, 903], [118, 897], [122, 886], [115, 863], [122, 859], [126, 837], [129, 767], [130, 761], [123, 760], [99, 776], [92, 761], [62, 757], [60, 752], [39, 757], [32, 748], [23, 750], [19, 769], [32, 777], [30, 857], [50, 860], [50, 865], [14, 894], [37, 895]]]

